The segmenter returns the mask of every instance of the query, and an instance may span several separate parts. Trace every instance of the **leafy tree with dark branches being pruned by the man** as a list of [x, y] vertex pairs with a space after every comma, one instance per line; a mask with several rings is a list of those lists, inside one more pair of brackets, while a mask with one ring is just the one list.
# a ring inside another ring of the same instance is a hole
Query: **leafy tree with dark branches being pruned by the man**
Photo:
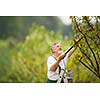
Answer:
[[[87, 76], [95, 81], [100, 79], [100, 18], [91, 16], [71, 17], [75, 38], [83, 37], [77, 45], [79, 52], [76, 56], [90, 72]], [[94, 76], [94, 75], [95, 76]]]

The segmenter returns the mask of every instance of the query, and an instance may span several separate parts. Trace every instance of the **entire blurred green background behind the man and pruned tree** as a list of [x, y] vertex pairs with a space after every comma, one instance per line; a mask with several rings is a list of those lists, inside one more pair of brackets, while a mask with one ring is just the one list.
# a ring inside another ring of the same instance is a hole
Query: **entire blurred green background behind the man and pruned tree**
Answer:
[[[60, 41], [66, 50], [73, 37], [69, 16], [0, 16], [0, 82], [45, 83], [50, 45]], [[75, 82], [100, 82], [77, 64], [76, 54], [66, 65]]]

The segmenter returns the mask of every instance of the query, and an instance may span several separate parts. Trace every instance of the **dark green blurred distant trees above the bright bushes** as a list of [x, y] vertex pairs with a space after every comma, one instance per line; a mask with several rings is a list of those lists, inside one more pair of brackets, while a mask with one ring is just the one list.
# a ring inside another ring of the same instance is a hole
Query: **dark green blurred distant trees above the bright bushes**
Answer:
[[49, 31], [60, 31], [64, 36], [73, 35], [71, 25], [64, 25], [57, 16], [0, 16], [0, 39], [11, 36], [22, 41], [32, 23], [43, 25]]

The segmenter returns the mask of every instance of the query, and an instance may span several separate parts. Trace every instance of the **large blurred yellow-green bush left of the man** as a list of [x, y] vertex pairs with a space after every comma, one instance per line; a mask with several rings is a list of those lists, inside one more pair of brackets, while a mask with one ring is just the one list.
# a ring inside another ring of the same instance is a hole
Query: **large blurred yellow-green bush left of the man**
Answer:
[[[24, 42], [16, 43], [12, 49], [7, 47], [6, 50], [11, 51], [11, 54], [8, 52], [6, 54], [10, 61], [4, 63], [5, 69], [9, 64], [10, 69], [5, 72], [7, 75], [2, 74], [4, 77], [0, 81], [45, 82], [47, 77], [47, 57], [50, 55], [50, 45], [55, 41], [62, 41], [59, 32], [47, 31], [44, 26], [39, 27], [33, 24]], [[7, 60], [7, 58], [4, 59], [2, 60]], [[2, 66], [4, 64], [1, 65], [1, 68]]]

